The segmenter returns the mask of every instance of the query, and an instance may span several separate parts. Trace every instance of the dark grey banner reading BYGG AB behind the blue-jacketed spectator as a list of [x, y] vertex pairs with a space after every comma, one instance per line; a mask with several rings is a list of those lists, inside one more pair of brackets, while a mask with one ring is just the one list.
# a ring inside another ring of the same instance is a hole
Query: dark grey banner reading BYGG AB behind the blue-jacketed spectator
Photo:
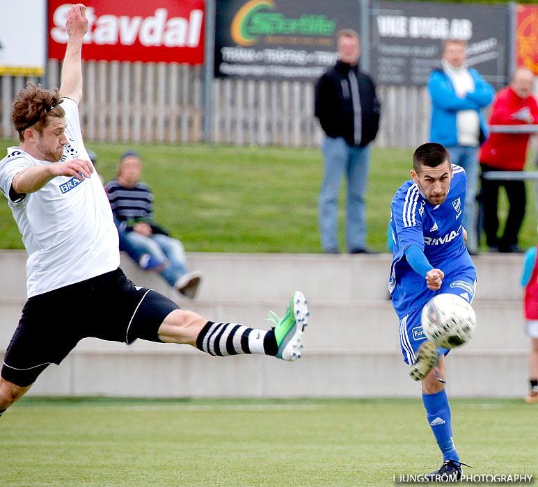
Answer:
[[467, 42], [467, 65], [496, 88], [507, 78], [508, 9], [466, 3], [372, 4], [371, 72], [379, 84], [424, 86], [443, 40]]

